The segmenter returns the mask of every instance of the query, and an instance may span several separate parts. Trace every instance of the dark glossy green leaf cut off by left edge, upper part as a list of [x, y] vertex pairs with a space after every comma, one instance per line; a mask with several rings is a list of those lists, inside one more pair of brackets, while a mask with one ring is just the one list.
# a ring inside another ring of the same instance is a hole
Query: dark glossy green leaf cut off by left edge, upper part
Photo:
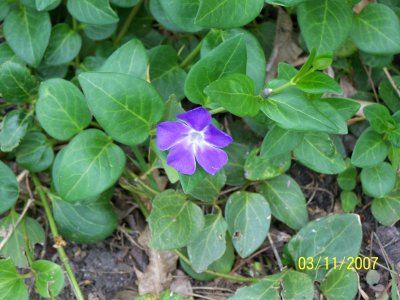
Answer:
[[30, 102], [38, 82], [29, 69], [19, 63], [7, 61], [0, 65], [0, 94], [9, 102]]

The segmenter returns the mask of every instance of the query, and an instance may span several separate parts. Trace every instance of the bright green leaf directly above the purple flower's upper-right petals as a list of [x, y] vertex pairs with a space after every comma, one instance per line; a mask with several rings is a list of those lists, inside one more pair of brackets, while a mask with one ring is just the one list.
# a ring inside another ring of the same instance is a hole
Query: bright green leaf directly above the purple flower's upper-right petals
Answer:
[[204, 90], [212, 102], [239, 117], [254, 116], [260, 110], [261, 98], [255, 96], [254, 81], [244, 74], [232, 74], [212, 82]]

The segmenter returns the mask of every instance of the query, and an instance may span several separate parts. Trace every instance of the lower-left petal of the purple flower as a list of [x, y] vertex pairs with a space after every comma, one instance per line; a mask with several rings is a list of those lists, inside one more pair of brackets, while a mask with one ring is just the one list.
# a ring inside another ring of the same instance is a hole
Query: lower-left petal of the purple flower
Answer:
[[180, 173], [192, 175], [196, 171], [196, 160], [192, 145], [182, 141], [173, 146], [168, 153], [167, 164]]

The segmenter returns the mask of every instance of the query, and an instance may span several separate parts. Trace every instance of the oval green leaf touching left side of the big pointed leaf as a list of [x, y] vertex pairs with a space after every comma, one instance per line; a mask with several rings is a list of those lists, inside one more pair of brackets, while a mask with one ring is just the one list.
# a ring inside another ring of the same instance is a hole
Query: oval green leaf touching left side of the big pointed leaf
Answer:
[[64, 79], [42, 82], [36, 116], [43, 129], [58, 140], [68, 140], [86, 128], [91, 120], [82, 92]]

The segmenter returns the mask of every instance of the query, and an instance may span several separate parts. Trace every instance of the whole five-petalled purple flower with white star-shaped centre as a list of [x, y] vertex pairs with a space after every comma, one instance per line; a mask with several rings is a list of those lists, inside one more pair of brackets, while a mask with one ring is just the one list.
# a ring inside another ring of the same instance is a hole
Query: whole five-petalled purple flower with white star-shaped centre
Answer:
[[196, 161], [207, 173], [217, 173], [228, 155], [219, 148], [228, 146], [232, 138], [211, 123], [211, 114], [198, 107], [176, 116], [183, 122], [163, 122], [157, 125], [157, 146], [170, 149], [167, 164], [178, 172], [191, 175]]

